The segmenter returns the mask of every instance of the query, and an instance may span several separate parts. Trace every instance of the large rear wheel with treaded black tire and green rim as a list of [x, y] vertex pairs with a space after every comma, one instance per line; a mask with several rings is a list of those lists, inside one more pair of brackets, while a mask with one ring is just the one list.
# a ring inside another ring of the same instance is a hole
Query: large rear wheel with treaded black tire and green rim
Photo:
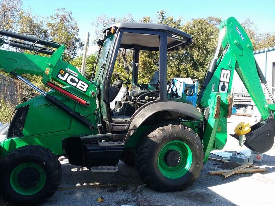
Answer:
[[158, 191], [184, 190], [203, 168], [203, 145], [185, 125], [162, 126], [142, 138], [135, 164], [141, 179]]

